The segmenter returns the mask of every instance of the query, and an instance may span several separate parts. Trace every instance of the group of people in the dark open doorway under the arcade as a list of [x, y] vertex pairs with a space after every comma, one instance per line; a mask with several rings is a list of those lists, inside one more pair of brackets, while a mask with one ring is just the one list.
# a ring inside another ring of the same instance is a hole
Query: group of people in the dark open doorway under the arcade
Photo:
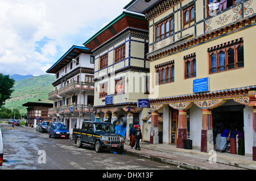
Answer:
[[[243, 132], [243, 127], [234, 128], [231, 127], [230, 131], [224, 126], [221, 127], [221, 138], [220, 138], [220, 152], [226, 152], [228, 147], [228, 142], [230, 142], [230, 153], [237, 154], [237, 144], [236, 136], [238, 134], [238, 154], [245, 155], [245, 137]], [[218, 134], [218, 129], [213, 127], [213, 143], [216, 144], [216, 137]]]

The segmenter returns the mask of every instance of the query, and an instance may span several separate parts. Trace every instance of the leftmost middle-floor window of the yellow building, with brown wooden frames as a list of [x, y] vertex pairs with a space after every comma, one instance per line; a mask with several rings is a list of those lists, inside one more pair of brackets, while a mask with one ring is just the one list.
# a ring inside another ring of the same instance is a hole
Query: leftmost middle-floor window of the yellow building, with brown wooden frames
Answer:
[[156, 65], [156, 84], [174, 82], [174, 61], [170, 61], [165, 66]]

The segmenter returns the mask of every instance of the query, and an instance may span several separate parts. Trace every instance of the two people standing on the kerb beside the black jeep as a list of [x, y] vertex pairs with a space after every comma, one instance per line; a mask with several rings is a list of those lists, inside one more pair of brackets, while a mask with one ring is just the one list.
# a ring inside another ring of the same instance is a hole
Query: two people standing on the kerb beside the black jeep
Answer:
[[130, 148], [136, 150], [141, 150], [139, 142], [142, 139], [142, 132], [140, 125], [133, 124], [133, 127], [130, 129]]

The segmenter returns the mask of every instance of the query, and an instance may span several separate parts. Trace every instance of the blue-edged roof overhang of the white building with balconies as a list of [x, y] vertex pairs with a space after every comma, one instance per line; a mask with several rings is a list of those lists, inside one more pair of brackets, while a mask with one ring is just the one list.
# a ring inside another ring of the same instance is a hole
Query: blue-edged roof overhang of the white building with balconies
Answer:
[[81, 53], [92, 53], [86, 47], [80, 47], [73, 45], [51, 68], [49, 68], [46, 73], [56, 74], [58, 71], [64, 68], [73, 58], [76, 58]]

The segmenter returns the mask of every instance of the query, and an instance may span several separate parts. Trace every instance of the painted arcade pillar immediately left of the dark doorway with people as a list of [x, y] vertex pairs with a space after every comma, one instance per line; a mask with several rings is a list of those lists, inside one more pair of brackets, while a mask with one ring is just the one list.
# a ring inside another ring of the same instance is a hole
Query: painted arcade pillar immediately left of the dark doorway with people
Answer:
[[201, 152], [208, 153], [214, 149], [212, 131], [212, 110], [203, 109], [201, 130]]

